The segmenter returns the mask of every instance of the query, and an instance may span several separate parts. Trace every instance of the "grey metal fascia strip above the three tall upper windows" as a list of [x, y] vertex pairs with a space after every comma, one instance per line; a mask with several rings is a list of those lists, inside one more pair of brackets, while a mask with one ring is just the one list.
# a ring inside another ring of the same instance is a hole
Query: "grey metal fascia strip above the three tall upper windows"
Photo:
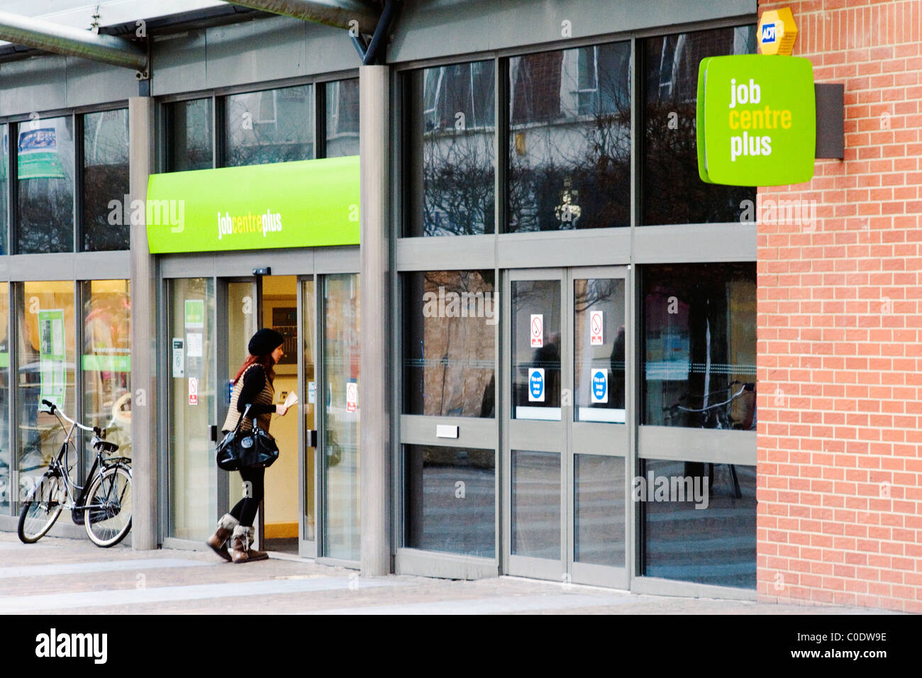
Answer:
[[408, 0], [405, 5], [387, 50], [391, 63], [557, 42], [564, 20], [573, 38], [583, 38], [756, 13], [755, 0]]

